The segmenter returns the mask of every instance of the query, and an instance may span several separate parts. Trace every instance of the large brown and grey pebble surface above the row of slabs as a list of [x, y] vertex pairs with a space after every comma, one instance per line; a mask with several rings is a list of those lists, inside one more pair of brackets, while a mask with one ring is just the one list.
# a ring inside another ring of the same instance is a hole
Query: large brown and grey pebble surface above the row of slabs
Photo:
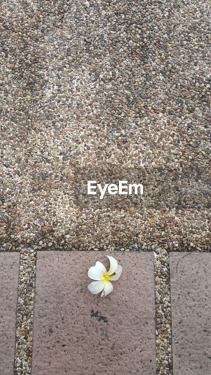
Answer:
[[[209, 13], [197, 0], [3, 5], [2, 250], [210, 251]], [[93, 177], [143, 196], [87, 196]]]

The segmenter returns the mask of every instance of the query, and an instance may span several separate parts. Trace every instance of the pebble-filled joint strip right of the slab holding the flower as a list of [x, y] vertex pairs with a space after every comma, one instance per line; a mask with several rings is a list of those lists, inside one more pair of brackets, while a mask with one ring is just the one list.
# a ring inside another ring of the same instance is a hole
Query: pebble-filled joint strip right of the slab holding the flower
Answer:
[[169, 254], [158, 248], [154, 255], [157, 375], [173, 375]]

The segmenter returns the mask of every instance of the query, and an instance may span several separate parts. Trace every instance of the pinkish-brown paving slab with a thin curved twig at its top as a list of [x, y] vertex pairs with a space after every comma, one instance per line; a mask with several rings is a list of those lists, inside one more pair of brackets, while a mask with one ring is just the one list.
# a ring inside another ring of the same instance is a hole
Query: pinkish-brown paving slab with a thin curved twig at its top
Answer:
[[211, 254], [170, 254], [170, 288], [173, 374], [210, 375]]

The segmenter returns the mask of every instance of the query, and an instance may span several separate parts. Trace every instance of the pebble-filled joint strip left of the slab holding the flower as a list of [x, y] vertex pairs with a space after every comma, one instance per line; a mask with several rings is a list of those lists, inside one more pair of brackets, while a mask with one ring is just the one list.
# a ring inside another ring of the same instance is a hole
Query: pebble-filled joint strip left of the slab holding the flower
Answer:
[[36, 252], [29, 248], [21, 250], [14, 365], [15, 375], [30, 375], [32, 371], [35, 272]]

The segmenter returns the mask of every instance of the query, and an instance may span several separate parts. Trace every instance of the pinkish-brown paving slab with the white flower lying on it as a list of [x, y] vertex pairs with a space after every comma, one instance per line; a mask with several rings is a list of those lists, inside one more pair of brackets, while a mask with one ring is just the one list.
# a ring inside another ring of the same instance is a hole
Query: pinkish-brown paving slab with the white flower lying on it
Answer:
[[33, 375], [156, 374], [153, 254], [106, 254], [123, 271], [101, 298], [86, 268], [105, 252], [38, 252]]

